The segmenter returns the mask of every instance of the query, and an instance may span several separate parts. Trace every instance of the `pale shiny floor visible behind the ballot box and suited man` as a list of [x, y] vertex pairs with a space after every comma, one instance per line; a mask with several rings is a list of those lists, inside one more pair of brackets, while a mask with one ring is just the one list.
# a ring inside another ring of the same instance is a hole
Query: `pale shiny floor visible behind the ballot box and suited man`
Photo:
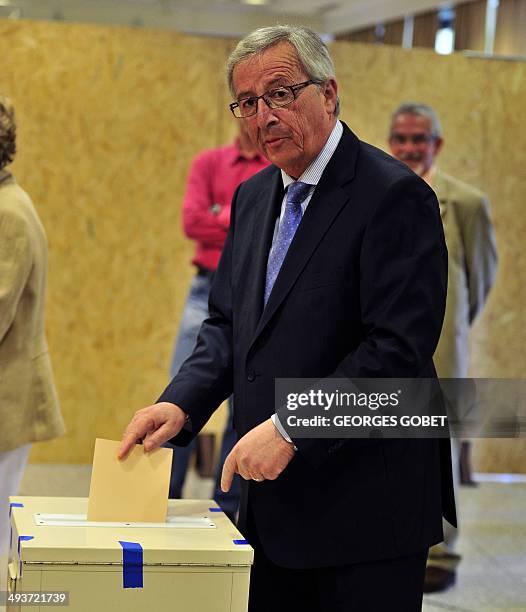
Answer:
[[[20, 495], [87, 496], [90, 472], [85, 465], [30, 465]], [[191, 472], [185, 496], [208, 498], [212, 485]], [[426, 596], [422, 609], [526, 612], [526, 482], [461, 488], [459, 505], [462, 562], [457, 584], [446, 593]], [[5, 588], [2, 578], [0, 590]]]

